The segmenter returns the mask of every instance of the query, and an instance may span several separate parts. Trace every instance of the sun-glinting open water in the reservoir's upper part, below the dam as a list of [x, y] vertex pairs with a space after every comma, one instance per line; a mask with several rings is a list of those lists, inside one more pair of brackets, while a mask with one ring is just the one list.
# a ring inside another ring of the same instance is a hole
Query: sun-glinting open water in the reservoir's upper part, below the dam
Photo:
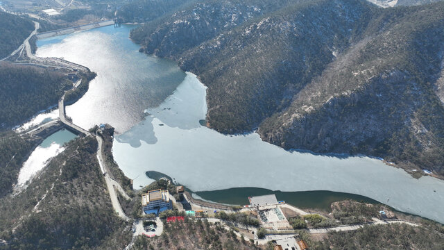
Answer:
[[185, 78], [176, 63], [139, 53], [128, 39], [130, 28], [105, 26], [37, 40], [36, 56], [64, 58], [97, 73], [85, 96], [66, 108], [74, 124], [91, 128], [109, 123], [123, 133]]

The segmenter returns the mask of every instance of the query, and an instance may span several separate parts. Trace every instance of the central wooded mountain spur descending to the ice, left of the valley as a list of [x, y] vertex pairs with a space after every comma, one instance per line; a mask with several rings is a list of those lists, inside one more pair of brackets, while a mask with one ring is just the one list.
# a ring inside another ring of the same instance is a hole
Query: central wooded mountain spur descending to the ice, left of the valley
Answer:
[[140, 31], [148, 36], [138, 41], [147, 53], [179, 60], [209, 87], [212, 127], [250, 131], [288, 106], [293, 93], [333, 60], [330, 48], [347, 47], [370, 16], [365, 2], [294, 2], [196, 3], [151, 31], [147, 24]]

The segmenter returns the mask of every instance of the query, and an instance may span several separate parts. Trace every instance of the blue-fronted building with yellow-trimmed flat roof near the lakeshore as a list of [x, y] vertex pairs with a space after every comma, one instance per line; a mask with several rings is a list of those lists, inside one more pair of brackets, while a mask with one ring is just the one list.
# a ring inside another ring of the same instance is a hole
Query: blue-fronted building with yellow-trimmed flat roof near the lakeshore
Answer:
[[168, 190], [152, 190], [142, 194], [142, 209], [145, 214], [158, 215], [164, 210], [173, 208]]

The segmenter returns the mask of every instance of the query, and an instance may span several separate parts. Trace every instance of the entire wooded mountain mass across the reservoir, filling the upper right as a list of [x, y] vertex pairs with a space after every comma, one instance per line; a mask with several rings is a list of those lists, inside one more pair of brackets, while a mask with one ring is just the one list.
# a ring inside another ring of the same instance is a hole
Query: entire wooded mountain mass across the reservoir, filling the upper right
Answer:
[[[201, 1], [131, 33], [207, 85], [207, 122], [444, 174], [444, 3]], [[441, 80], [438, 80], [441, 77]]]

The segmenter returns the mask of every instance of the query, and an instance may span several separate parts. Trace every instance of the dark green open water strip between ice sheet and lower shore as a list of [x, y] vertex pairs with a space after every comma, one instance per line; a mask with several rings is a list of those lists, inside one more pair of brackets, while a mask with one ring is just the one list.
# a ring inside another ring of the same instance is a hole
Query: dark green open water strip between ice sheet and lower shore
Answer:
[[232, 205], [248, 205], [248, 197], [275, 194], [278, 201], [285, 201], [298, 208], [314, 208], [328, 212], [330, 212], [330, 205], [333, 202], [345, 199], [365, 203], [379, 203], [374, 199], [358, 194], [331, 191], [281, 192], [264, 188], [230, 188], [227, 190], [195, 192], [195, 194], [207, 201]]

